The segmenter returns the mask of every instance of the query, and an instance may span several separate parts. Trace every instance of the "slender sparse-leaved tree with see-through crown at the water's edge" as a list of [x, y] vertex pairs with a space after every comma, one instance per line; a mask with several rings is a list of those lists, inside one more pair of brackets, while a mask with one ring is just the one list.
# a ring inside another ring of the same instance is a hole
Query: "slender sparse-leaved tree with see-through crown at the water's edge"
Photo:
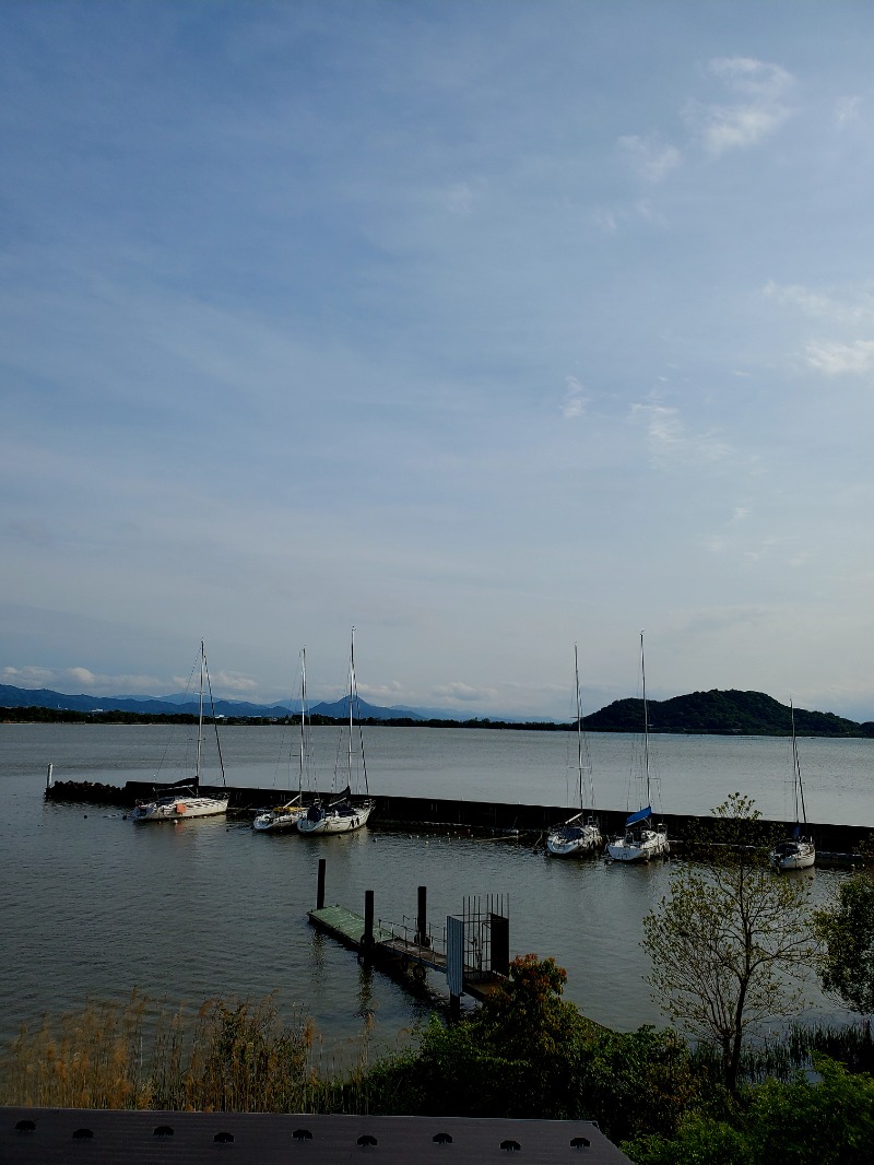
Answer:
[[717, 1045], [731, 1092], [745, 1033], [798, 1002], [813, 958], [809, 883], [768, 867], [754, 806], [732, 793], [713, 811], [720, 845], [712, 863], [675, 870], [670, 895], [643, 919], [662, 1009]]

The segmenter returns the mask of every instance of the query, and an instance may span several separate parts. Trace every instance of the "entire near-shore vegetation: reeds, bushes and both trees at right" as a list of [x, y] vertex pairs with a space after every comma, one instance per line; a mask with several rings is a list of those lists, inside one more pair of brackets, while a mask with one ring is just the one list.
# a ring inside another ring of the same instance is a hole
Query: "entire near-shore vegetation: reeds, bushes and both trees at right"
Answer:
[[[135, 990], [22, 1026], [0, 1048], [0, 1104], [594, 1120], [635, 1165], [869, 1165], [874, 881], [857, 874], [813, 909], [809, 881], [775, 875], [750, 845], [763, 824], [750, 798], [714, 814], [720, 853], [678, 866], [643, 920], [674, 1026], [594, 1023], [536, 954], [464, 1018], [435, 1009], [394, 1047], [368, 1015], [345, 1055], [275, 995], [174, 1009]], [[811, 972], [852, 1012], [844, 1025], [791, 1021]]]

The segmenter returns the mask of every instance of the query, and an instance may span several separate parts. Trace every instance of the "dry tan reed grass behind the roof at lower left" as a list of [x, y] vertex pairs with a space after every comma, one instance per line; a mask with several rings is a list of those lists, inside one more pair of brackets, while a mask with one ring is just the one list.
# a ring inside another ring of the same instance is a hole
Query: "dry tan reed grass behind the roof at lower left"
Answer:
[[312, 1022], [272, 996], [169, 1010], [134, 994], [22, 1028], [0, 1066], [0, 1102], [58, 1108], [367, 1111], [371, 1024], [357, 1061], [325, 1054]]

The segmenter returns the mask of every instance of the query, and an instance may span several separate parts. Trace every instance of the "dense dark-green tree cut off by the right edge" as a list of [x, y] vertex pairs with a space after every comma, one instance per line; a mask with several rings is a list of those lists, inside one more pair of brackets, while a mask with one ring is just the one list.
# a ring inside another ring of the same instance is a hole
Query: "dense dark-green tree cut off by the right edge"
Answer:
[[860, 1015], [874, 1011], [874, 878], [857, 874], [843, 882], [838, 902], [817, 910], [813, 924], [825, 954], [823, 988]]

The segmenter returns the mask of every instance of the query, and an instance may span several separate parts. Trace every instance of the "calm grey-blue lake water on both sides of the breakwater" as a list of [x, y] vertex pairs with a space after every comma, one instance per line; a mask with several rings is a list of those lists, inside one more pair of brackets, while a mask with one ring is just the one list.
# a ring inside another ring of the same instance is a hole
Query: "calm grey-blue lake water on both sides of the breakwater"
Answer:
[[[191, 729], [176, 733], [190, 737]], [[337, 733], [313, 736], [325, 788]], [[365, 743], [372, 792], [517, 803], [521, 813], [526, 804], [573, 804], [570, 733], [373, 728]], [[788, 740], [654, 743], [665, 812], [707, 813], [738, 790], [755, 797], [763, 816], [791, 818]], [[364, 913], [372, 889], [378, 917], [390, 922], [415, 917], [418, 885], [428, 887], [434, 924], [460, 913], [465, 896], [505, 895], [512, 953], [555, 956], [568, 969], [566, 997], [586, 1015], [621, 1030], [663, 1022], [639, 940], [670, 866], [563, 862], [517, 842], [367, 829], [306, 839], [256, 835], [224, 819], [134, 826], [121, 812], [43, 800], [49, 762], [58, 781], [124, 784], [158, 769], [171, 781], [181, 774], [164, 762], [184, 744], [169, 740], [165, 726], [0, 725], [0, 1043], [44, 1012], [124, 1001], [138, 988], [174, 1005], [276, 991], [283, 1008], [313, 1017], [337, 1054], [365, 1016], [375, 1019], [378, 1043], [392, 1045], [431, 1003], [312, 931], [306, 910], [322, 856], [329, 903]], [[294, 730], [280, 727], [223, 729], [228, 783], [296, 788], [296, 747]], [[630, 737], [593, 734], [590, 747], [598, 803], [625, 809]], [[874, 741], [802, 739], [799, 750], [809, 818], [874, 826]], [[213, 779], [204, 774], [204, 783]], [[844, 876], [810, 874], [819, 901]], [[445, 995], [439, 976], [430, 974], [429, 986]], [[808, 997], [811, 1014], [834, 1014], [815, 984]]]

